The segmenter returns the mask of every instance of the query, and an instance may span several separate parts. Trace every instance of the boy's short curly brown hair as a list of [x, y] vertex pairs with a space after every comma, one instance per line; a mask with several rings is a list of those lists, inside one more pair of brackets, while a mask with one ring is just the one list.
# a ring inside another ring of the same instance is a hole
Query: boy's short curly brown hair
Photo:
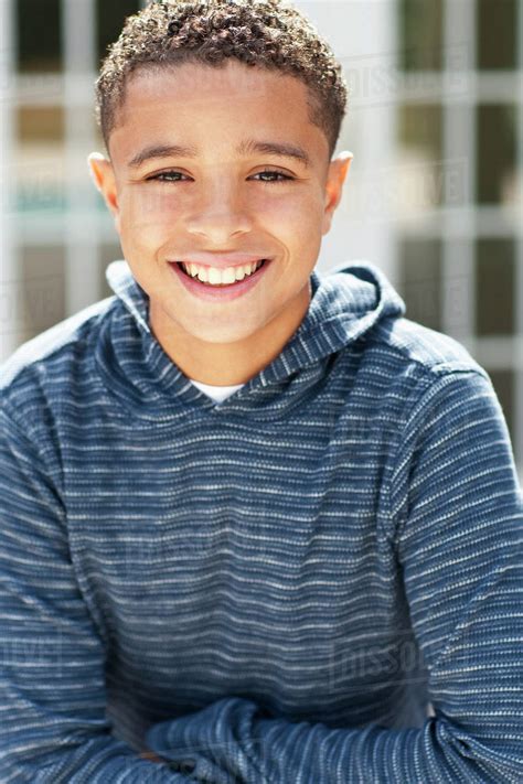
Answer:
[[332, 157], [346, 111], [343, 69], [286, 0], [157, 0], [128, 17], [96, 80], [96, 119], [107, 151], [131, 72], [186, 62], [218, 66], [227, 57], [298, 77], [309, 88], [310, 121], [323, 131]]

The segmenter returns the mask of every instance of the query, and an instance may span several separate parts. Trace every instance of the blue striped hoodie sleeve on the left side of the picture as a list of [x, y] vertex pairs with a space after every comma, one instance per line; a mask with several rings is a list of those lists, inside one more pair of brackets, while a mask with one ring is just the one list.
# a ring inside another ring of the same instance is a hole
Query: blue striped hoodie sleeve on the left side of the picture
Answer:
[[0, 781], [188, 781], [111, 735], [105, 648], [75, 580], [51, 455], [0, 417]]

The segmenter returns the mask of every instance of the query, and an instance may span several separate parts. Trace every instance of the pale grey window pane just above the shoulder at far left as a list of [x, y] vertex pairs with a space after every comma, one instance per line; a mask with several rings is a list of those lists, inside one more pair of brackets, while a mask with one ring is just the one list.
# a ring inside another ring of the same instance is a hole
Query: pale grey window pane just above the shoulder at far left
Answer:
[[65, 264], [62, 247], [22, 248], [22, 319], [30, 340], [65, 319]]

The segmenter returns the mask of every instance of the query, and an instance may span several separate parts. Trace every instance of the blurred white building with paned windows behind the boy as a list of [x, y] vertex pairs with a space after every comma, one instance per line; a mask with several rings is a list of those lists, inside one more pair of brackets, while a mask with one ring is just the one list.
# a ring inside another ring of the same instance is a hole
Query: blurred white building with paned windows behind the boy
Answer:
[[[0, 0], [1, 356], [102, 298], [94, 80], [140, 0]], [[342, 61], [354, 161], [320, 271], [378, 265], [488, 370], [523, 481], [523, 0], [297, 2]]]

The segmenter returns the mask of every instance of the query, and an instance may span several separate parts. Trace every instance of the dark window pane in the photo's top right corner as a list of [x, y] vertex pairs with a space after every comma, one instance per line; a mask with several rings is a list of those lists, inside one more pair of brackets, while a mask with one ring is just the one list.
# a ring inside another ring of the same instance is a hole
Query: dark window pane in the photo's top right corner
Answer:
[[516, 0], [478, 0], [479, 68], [517, 67], [516, 15]]

